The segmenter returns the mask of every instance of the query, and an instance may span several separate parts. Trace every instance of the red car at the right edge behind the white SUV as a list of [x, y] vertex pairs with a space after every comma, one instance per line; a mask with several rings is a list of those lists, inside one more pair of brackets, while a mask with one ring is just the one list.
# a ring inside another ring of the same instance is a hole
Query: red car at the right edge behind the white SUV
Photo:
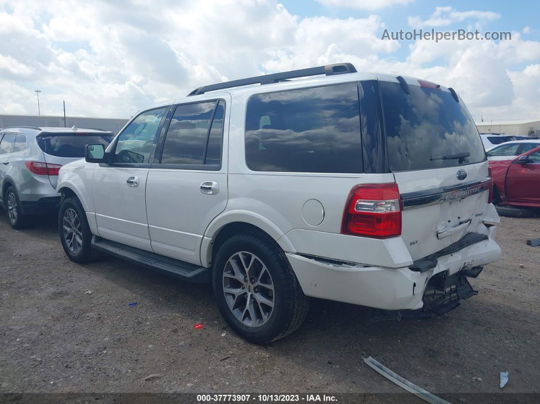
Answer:
[[493, 202], [540, 208], [540, 147], [511, 160], [489, 162]]

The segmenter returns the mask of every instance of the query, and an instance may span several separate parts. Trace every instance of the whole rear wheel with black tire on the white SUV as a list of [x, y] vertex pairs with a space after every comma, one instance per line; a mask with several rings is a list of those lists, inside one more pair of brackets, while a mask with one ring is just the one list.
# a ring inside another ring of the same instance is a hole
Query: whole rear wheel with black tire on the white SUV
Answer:
[[215, 257], [212, 284], [227, 324], [254, 343], [283, 338], [306, 318], [309, 298], [285, 253], [266, 235], [228, 239]]

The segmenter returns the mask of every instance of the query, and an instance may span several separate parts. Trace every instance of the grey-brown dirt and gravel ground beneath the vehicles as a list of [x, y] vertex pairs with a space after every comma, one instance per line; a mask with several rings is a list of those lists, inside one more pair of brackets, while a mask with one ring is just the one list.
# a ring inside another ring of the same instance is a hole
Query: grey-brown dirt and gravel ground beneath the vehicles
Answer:
[[0, 393], [402, 393], [371, 355], [443, 398], [539, 397], [504, 393], [540, 393], [540, 247], [525, 244], [540, 218], [502, 218], [501, 261], [442, 317], [368, 324], [366, 307], [314, 299], [299, 331], [258, 346], [225, 325], [210, 286], [114, 258], [75, 264], [54, 217], [15, 231], [0, 216]]

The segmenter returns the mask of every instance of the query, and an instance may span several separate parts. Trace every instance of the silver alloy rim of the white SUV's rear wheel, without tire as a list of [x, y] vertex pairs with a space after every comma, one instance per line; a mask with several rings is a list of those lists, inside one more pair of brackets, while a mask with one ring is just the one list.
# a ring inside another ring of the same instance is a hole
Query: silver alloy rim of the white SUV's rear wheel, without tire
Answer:
[[223, 271], [223, 293], [242, 324], [260, 327], [274, 311], [274, 283], [266, 265], [247, 251], [235, 253]]

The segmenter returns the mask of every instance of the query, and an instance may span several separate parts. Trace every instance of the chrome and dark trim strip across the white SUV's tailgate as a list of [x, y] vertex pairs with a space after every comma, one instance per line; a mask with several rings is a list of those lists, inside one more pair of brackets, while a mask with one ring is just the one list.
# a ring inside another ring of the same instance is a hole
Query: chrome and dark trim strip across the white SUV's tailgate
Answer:
[[491, 188], [491, 179], [483, 178], [481, 181], [474, 181], [459, 184], [453, 187], [435, 188], [426, 191], [411, 192], [401, 194], [403, 210], [415, 209], [437, 203], [457, 201], [471, 195], [480, 194]]

